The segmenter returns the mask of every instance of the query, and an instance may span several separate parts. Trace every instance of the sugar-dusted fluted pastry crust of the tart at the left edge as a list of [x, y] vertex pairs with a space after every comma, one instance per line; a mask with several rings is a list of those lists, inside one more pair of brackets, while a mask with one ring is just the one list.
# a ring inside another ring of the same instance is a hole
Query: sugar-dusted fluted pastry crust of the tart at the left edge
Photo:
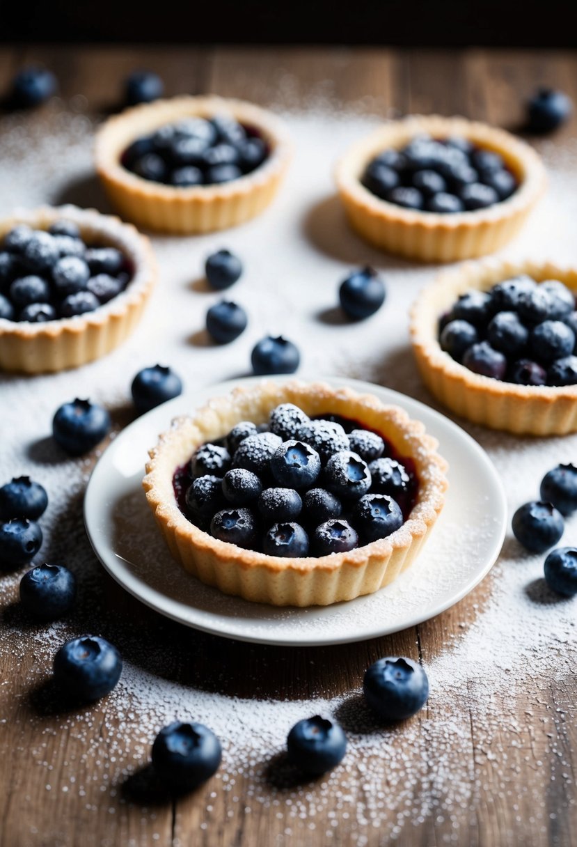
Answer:
[[47, 230], [57, 220], [78, 224], [88, 244], [118, 247], [132, 264], [133, 276], [118, 296], [94, 312], [28, 324], [0, 318], [0, 368], [42, 374], [77, 368], [105, 356], [128, 338], [157, 280], [157, 265], [148, 239], [134, 226], [94, 209], [75, 206], [17, 211], [0, 221], [0, 239], [17, 224]]

